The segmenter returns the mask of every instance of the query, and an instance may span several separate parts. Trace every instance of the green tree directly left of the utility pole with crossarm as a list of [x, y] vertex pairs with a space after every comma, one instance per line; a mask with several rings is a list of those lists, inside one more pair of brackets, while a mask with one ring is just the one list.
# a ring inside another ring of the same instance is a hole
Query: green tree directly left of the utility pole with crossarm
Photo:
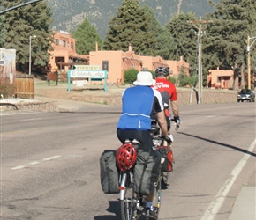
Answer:
[[186, 62], [189, 62], [192, 70], [196, 68], [197, 62], [197, 38], [195, 32], [197, 29], [189, 20], [195, 20], [196, 17], [192, 13], [184, 14], [184, 12], [177, 14], [170, 19], [166, 24], [169, 34], [173, 39], [173, 53], [170, 59], [179, 60], [180, 56], [184, 57]]

